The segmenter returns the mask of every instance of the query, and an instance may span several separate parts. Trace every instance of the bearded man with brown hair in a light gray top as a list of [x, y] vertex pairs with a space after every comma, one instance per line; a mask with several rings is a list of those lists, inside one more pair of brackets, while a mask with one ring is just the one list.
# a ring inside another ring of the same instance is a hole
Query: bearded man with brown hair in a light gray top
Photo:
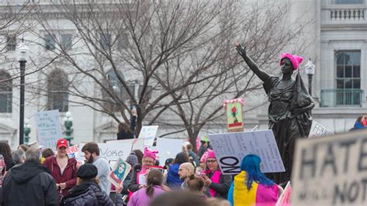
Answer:
[[97, 143], [88, 142], [84, 144], [81, 151], [84, 152], [86, 163], [92, 163], [98, 169], [97, 177], [99, 179], [99, 187], [102, 191], [105, 191], [107, 195], [110, 195], [111, 182], [108, 181], [107, 177], [111, 172], [110, 166], [107, 159], [99, 157], [99, 147]]

